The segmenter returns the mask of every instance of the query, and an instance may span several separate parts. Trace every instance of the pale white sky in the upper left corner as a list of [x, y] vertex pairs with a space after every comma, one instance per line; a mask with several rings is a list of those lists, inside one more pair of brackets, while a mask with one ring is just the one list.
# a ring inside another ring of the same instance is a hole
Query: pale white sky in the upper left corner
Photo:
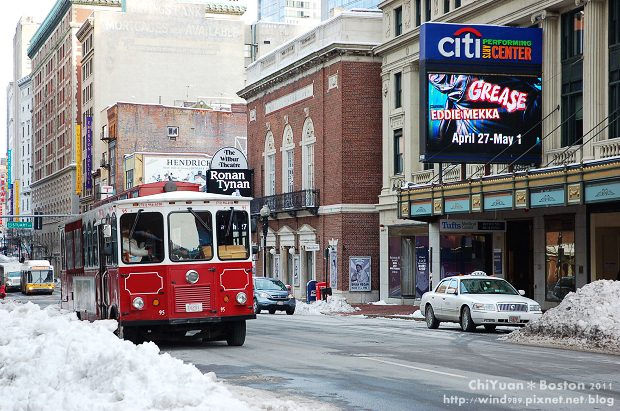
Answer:
[[13, 36], [21, 16], [43, 21], [56, 0], [20, 0], [2, 4], [0, 13], [0, 157], [6, 157], [6, 88], [13, 81]]

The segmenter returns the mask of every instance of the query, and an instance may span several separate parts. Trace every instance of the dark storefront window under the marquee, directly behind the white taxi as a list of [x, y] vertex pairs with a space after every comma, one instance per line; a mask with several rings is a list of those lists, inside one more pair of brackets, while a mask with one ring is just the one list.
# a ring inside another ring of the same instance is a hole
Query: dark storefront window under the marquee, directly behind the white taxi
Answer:
[[492, 272], [490, 234], [443, 234], [440, 245], [441, 278], [477, 270]]

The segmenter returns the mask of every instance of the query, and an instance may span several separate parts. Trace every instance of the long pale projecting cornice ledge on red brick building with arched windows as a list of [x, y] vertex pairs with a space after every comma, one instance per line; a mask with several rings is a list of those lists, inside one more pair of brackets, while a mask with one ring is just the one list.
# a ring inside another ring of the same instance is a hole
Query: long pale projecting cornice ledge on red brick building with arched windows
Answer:
[[237, 92], [237, 95], [246, 100], [251, 99], [261, 91], [277, 84], [289, 76], [303, 72], [317, 64], [329, 61], [336, 56], [373, 56], [372, 44], [355, 44], [355, 43], [332, 43], [314, 53], [308, 54], [303, 58], [285, 66], [278, 71], [261, 78], [260, 80], [247, 85]]

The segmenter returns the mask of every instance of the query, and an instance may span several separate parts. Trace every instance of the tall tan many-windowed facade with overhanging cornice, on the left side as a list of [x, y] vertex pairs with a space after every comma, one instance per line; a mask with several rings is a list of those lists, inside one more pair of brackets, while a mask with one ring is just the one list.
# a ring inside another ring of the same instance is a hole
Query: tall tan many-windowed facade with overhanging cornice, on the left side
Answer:
[[[75, 135], [81, 118], [81, 47], [76, 33], [98, 8], [120, 7], [116, 0], [58, 0], [33, 35], [28, 47], [32, 60], [33, 210], [71, 214], [79, 210], [75, 194]], [[59, 269], [58, 224], [44, 218], [37, 241], [44, 256]]]

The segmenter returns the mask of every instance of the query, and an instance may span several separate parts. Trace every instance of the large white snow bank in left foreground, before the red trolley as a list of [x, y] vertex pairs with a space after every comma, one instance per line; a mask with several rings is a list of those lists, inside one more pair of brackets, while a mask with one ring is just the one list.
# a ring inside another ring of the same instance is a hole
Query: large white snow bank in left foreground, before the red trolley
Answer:
[[[113, 320], [89, 323], [56, 307], [0, 303], [3, 410], [292, 409], [292, 401], [239, 400], [214, 373], [119, 340]], [[234, 350], [234, 348], [231, 348]]]

